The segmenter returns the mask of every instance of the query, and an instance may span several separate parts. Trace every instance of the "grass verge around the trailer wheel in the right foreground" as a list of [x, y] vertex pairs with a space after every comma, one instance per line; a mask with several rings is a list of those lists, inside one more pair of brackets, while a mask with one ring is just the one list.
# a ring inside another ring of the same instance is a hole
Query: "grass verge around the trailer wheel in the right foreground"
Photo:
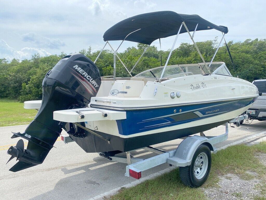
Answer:
[[[212, 155], [212, 167], [209, 178], [203, 187], [217, 186], [218, 175], [234, 173], [240, 177], [246, 174], [247, 170], [255, 171], [262, 179], [265, 178], [266, 166], [259, 162], [255, 156], [256, 153], [266, 153], [266, 142], [258, 145], [236, 145], [218, 151]], [[262, 190], [262, 197], [259, 200], [265, 200], [265, 185], [259, 186]], [[236, 193], [240, 197], [241, 194]], [[118, 194], [110, 197], [110, 200], [173, 200], [173, 199], [206, 199], [202, 188], [190, 188], [182, 184], [179, 177], [179, 169], [163, 174], [152, 180], [147, 180], [137, 186], [122, 188]], [[257, 198], [256, 198], [257, 199]]]

